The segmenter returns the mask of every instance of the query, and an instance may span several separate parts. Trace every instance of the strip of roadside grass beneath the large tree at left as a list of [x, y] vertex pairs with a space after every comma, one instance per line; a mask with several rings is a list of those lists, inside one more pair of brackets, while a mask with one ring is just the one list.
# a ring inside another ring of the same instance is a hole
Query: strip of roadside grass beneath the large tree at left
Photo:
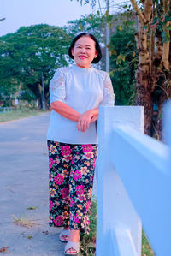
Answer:
[[10, 110], [3, 113], [0, 112], [0, 122], [8, 122], [30, 116], [39, 116], [43, 114], [45, 111], [47, 110], [22, 108], [18, 110]]

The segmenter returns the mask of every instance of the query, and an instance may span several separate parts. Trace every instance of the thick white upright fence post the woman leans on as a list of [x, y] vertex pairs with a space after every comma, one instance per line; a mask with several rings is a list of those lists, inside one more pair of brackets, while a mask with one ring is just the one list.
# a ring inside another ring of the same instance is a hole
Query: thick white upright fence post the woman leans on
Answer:
[[140, 256], [141, 222], [111, 163], [111, 134], [118, 125], [143, 132], [143, 107], [115, 106], [99, 110], [97, 256]]

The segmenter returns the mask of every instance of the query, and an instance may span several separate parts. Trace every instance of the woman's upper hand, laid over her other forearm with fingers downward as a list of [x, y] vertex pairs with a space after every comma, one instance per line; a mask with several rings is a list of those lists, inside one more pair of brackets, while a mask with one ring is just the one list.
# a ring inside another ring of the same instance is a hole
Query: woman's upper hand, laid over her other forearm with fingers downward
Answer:
[[92, 110], [87, 110], [85, 113], [80, 115], [79, 121], [77, 123], [77, 128], [79, 131], [85, 132], [89, 128], [92, 116]]

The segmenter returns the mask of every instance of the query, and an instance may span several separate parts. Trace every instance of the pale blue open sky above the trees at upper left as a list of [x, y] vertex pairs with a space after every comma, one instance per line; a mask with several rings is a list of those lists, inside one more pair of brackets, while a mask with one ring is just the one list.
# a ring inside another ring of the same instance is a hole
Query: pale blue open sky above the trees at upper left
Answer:
[[0, 36], [41, 23], [61, 27], [90, 13], [91, 6], [77, 0], [0, 0], [0, 19], [6, 18], [0, 21]]

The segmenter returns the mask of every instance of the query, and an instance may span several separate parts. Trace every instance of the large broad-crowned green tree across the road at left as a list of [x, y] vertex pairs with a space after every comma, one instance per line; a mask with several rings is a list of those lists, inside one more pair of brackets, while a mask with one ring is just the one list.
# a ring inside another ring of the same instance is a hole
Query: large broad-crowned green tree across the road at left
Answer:
[[49, 25], [21, 27], [16, 33], [1, 37], [1, 92], [14, 93], [22, 83], [22, 89], [29, 88], [42, 107], [42, 74], [47, 101], [50, 78], [56, 68], [68, 66], [70, 40], [64, 29]]

